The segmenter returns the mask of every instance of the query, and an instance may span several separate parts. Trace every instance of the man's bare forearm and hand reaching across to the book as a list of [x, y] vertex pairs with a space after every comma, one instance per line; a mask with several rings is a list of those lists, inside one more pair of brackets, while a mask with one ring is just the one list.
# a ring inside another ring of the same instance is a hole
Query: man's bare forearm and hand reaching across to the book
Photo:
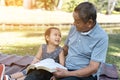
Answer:
[[68, 76], [87, 77], [96, 73], [99, 68], [99, 65], [99, 62], [90, 61], [90, 64], [87, 67], [76, 71], [67, 71], [64, 69], [57, 68], [57, 72], [55, 72], [54, 75], [58, 78]]

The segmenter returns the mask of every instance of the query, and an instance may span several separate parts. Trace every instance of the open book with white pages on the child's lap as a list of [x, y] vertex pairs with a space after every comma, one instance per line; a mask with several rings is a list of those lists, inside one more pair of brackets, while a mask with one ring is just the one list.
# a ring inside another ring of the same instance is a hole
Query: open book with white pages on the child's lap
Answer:
[[55, 72], [56, 68], [62, 68], [62, 69], [66, 69], [66, 67], [62, 66], [61, 64], [55, 62], [53, 59], [51, 58], [47, 58], [44, 60], [41, 60], [35, 64], [31, 64], [27, 67], [27, 72], [29, 72], [29, 70], [31, 69], [43, 69], [49, 72]]

